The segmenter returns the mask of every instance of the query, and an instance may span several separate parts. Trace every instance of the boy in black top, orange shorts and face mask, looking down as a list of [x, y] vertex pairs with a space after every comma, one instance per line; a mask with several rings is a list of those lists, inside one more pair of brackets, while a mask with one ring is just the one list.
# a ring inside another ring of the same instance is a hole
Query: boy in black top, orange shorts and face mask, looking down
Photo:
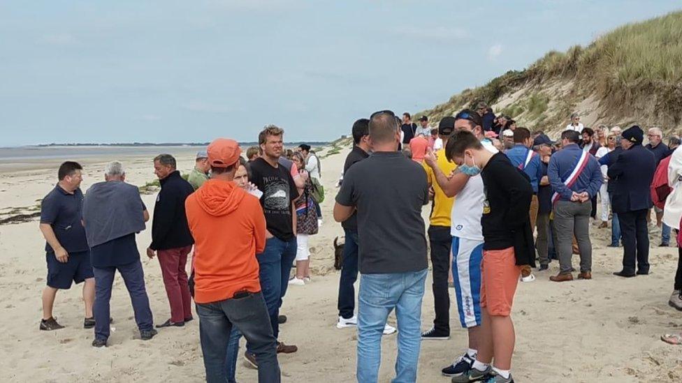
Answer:
[[493, 154], [484, 149], [470, 132], [454, 133], [445, 150], [448, 158], [457, 163], [460, 172], [481, 174], [486, 194], [481, 218], [484, 236], [481, 307], [485, 308], [481, 343], [472, 369], [467, 375], [454, 377], [453, 382], [481, 378], [493, 378], [493, 382], [514, 382], [509, 370], [515, 335], [509, 314], [521, 275], [519, 266], [534, 266], [535, 263], [528, 215], [532, 188], [505, 154]]

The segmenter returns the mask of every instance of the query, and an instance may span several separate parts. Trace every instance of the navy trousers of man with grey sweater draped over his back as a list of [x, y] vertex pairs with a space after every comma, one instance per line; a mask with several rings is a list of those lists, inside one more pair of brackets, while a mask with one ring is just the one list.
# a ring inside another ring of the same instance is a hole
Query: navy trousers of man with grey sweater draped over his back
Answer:
[[123, 281], [130, 294], [130, 301], [133, 303], [135, 322], [140, 331], [150, 331], [152, 329], [152, 310], [149, 306], [149, 297], [145, 289], [145, 272], [142, 269], [140, 260], [129, 264], [110, 267], [93, 267], [95, 274], [95, 302], [92, 312], [95, 317], [95, 338], [107, 340], [110, 334], [109, 318], [111, 299], [111, 288], [114, 284], [114, 276], [118, 270], [123, 277]]

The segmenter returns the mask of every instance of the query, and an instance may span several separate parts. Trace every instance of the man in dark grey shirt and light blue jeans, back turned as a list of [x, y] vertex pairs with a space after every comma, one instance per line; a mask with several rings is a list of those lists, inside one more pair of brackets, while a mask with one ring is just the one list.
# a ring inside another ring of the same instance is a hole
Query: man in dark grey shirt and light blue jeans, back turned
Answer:
[[415, 382], [421, 347], [421, 301], [426, 280], [428, 203], [423, 167], [398, 152], [400, 128], [393, 112], [372, 114], [372, 156], [344, 174], [334, 206], [343, 222], [358, 211], [358, 382], [377, 382], [382, 333], [396, 310], [400, 327], [396, 382]]

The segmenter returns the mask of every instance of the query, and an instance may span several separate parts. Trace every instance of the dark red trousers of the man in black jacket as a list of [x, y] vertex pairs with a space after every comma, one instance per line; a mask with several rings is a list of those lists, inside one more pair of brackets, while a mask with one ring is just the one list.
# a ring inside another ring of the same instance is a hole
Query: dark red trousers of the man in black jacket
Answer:
[[191, 295], [187, 284], [187, 255], [191, 246], [157, 251], [161, 275], [164, 276], [166, 294], [170, 302], [170, 322], [184, 322], [191, 317]]

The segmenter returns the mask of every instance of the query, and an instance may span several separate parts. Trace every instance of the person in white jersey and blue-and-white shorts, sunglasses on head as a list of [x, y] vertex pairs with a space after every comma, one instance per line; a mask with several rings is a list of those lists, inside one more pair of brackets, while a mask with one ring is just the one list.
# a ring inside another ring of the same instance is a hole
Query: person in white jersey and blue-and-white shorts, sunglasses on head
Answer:
[[[481, 140], [481, 144], [498, 153], [485, 139], [483, 121], [476, 112], [463, 110], [455, 116], [455, 131], [468, 130]], [[445, 153], [447, 153], [446, 144]], [[446, 195], [456, 196], [451, 213], [452, 276], [455, 281], [457, 307], [462, 326], [469, 333], [469, 348], [465, 354], [442, 369], [445, 376], [468, 379], [478, 350], [481, 326], [481, 259], [483, 257], [483, 230], [481, 216], [484, 207], [483, 180], [480, 175], [470, 176], [456, 172], [452, 177], [437, 167], [433, 152], [424, 158], [433, 169], [436, 181]], [[448, 158], [451, 160], [451, 158]], [[468, 380], [465, 380], [467, 382]]]

